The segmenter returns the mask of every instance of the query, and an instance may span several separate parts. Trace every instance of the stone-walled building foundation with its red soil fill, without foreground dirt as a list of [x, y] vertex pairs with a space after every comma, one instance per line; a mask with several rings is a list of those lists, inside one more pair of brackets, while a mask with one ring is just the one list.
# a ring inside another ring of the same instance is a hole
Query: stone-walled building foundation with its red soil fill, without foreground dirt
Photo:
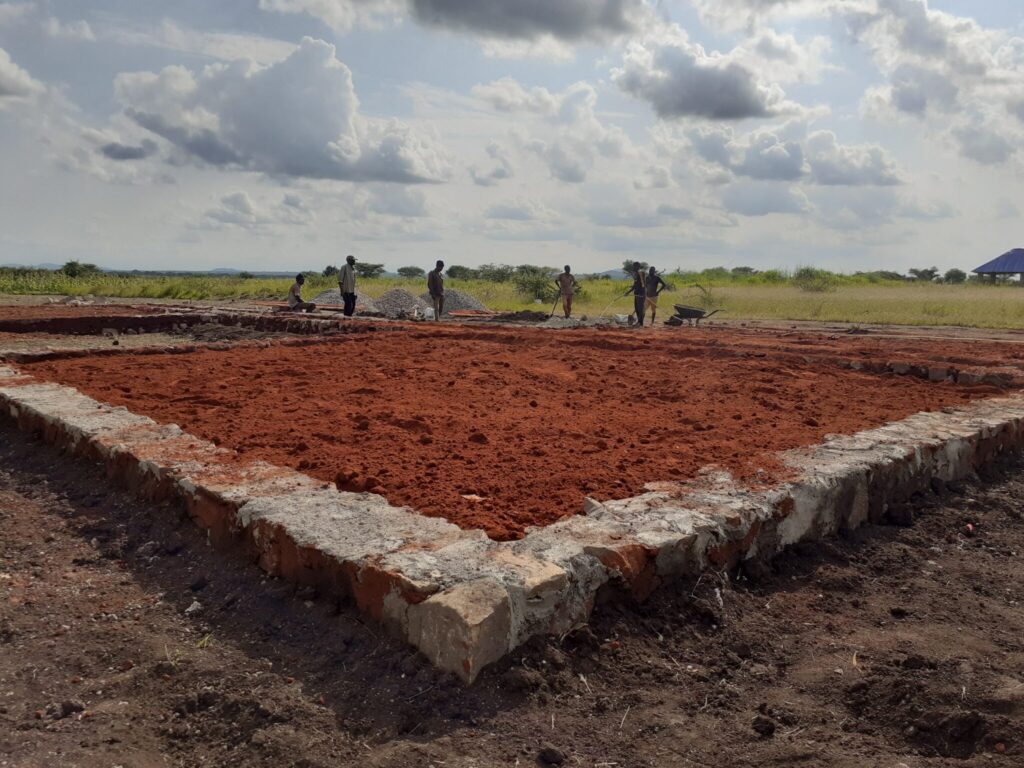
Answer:
[[6, 416], [467, 682], [1024, 445], [1012, 344], [83, 309], [0, 318], [97, 339], [3, 353]]

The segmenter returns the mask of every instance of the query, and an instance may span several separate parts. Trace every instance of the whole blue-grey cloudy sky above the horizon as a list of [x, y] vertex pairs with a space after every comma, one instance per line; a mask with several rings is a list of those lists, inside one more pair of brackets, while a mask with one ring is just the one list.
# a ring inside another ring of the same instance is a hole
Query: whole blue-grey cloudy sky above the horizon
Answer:
[[0, 2], [0, 264], [971, 269], [1020, 0]]

